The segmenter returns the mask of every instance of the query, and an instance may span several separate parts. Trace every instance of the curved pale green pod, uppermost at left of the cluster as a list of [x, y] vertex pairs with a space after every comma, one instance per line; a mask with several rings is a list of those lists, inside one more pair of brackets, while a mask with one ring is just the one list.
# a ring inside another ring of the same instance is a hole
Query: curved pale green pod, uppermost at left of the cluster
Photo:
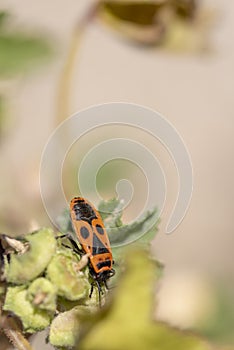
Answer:
[[11, 254], [5, 263], [7, 282], [25, 284], [39, 276], [47, 267], [56, 250], [56, 239], [51, 229], [41, 229], [25, 236], [29, 249], [25, 254]]

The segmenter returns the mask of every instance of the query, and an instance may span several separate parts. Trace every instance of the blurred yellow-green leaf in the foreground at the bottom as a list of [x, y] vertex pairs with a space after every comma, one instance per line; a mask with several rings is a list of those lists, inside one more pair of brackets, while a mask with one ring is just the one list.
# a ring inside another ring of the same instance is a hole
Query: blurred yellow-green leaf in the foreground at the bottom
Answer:
[[93, 320], [77, 349], [210, 350], [198, 336], [153, 320], [153, 285], [160, 267], [143, 250], [131, 250], [126, 260], [110, 308], [98, 322]]

